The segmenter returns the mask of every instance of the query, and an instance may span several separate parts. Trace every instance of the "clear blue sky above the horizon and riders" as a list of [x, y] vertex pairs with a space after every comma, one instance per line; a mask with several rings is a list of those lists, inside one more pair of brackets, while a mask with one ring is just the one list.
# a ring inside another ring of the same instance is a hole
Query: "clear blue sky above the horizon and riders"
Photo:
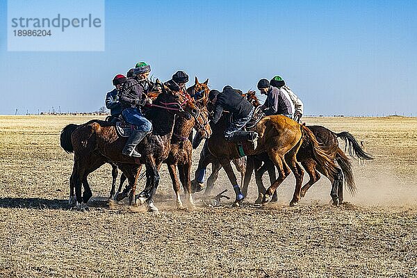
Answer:
[[[33, 1], [34, 2], [34, 1]], [[8, 52], [0, 0], [0, 114], [96, 111], [145, 60], [256, 88], [282, 76], [304, 113], [417, 115], [417, 1], [106, 1], [106, 51]]]

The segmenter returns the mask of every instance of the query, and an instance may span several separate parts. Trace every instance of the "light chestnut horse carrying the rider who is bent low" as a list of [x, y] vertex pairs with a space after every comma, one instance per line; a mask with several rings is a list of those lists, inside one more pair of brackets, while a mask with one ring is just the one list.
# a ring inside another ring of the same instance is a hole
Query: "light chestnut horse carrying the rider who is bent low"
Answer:
[[[231, 168], [230, 161], [231, 159], [239, 158], [243, 155], [236, 143], [227, 142], [224, 139], [224, 130], [228, 124], [228, 117], [223, 115], [218, 124], [212, 126], [213, 134], [211, 138], [206, 140], [207, 152], [203, 157], [200, 157], [196, 177], [200, 177], [202, 175], [201, 173], [204, 175], [208, 163], [211, 163], [213, 160], [218, 160], [227, 172], [227, 176], [234, 188], [238, 188], [236, 176]], [[336, 172], [334, 161], [327, 156], [323, 149], [321, 149], [313, 133], [305, 126], [301, 126], [288, 117], [281, 115], [263, 117], [263, 119], [250, 130], [256, 131], [259, 134], [258, 146], [256, 149], [247, 148], [245, 154], [254, 155], [267, 152], [272, 163], [274, 163], [279, 171], [278, 178], [272, 183], [270, 188], [266, 190], [266, 193], [263, 196], [263, 203], [270, 202], [272, 194], [282, 181], [288, 177], [291, 171], [294, 173], [296, 179], [295, 193], [291, 204], [297, 202], [297, 196], [300, 195], [304, 171], [297, 162], [296, 154], [302, 145], [303, 140], [309, 140], [311, 142], [311, 152], [313, 152], [314, 159], [316, 159], [318, 164], [322, 165], [325, 172], [331, 174]], [[192, 186], [194, 190], [200, 189], [197, 188], [197, 180], [193, 181]], [[234, 206], [239, 206], [243, 200], [243, 198], [240, 197], [239, 192], [240, 189], [235, 190], [236, 200]]]

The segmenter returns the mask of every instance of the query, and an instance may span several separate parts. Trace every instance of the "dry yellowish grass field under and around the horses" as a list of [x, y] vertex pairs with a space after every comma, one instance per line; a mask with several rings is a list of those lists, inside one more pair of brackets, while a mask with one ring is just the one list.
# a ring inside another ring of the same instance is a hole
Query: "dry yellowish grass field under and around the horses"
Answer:
[[[416, 118], [304, 119], [350, 131], [375, 156], [354, 161], [359, 193], [343, 206], [329, 204], [322, 178], [288, 207], [291, 176], [277, 204], [251, 206], [252, 181], [243, 208], [207, 208], [197, 193], [197, 211], [176, 211], [163, 166], [160, 216], [109, 206], [109, 165], [90, 175], [90, 211], [67, 207], [72, 155], [59, 134], [88, 120], [0, 117], [0, 277], [417, 277]], [[222, 171], [215, 192], [223, 188], [231, 195]]]

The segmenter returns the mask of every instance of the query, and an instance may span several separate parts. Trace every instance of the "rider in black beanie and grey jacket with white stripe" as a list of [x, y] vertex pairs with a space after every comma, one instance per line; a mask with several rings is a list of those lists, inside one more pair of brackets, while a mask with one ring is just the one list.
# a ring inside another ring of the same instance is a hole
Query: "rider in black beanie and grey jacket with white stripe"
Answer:
[[272, 87], [267, 79], [259, 80], [258, 89], [262, 95], [267, 96], [262, 106], [265, 115], [285, 115], [293, 118], [294, 104], [287, 92]]

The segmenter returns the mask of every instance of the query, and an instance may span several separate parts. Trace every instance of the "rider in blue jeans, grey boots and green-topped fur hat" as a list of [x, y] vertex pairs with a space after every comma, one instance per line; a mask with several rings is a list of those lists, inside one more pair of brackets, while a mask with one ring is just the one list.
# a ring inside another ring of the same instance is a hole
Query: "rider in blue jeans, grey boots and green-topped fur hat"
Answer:
[[149, 90], [148, 76], [151, 66], [145, 62], [136, 64], [133, 76], [124, 83], [120, 90], [120, 103], [122, 104], [122, 115], [126, 122], [136, 126], [131, 136], [124, 145], [122, 154], [139, 158], [141, 155], [136, 152], [136, 145], [145, 138], [152, 129], [152, 123], [142, 115], [141, 106], [145, 106], [147, 90]]

